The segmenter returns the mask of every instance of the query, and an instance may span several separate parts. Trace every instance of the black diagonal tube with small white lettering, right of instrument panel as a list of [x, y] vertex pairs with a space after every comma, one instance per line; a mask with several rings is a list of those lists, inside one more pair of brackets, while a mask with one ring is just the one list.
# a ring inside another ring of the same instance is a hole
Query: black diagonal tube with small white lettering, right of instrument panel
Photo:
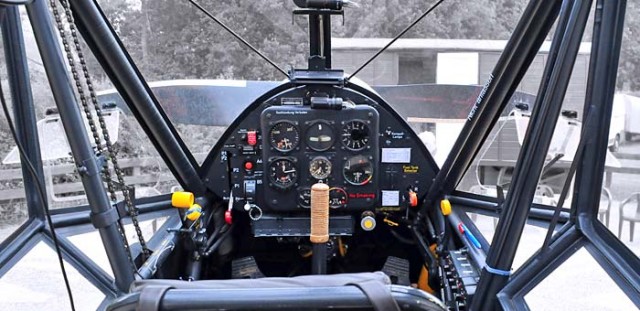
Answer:
[[431, 184], [424, 209], [433, 210], [439, 198], [454, 191], [538, 53], [560, 12], [560, 5], [561, 2], [555, 0], [529, 3]]

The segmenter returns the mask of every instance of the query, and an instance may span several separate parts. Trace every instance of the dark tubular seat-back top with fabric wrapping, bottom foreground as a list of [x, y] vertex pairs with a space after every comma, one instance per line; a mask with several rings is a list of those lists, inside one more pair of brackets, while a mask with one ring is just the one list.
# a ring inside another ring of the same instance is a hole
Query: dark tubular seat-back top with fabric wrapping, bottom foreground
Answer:
[[137, 280], [109, 311], [132, 310], [353, 310], [444, 311], [435, 296], [391, 285], [382, 272], [291, 278]]

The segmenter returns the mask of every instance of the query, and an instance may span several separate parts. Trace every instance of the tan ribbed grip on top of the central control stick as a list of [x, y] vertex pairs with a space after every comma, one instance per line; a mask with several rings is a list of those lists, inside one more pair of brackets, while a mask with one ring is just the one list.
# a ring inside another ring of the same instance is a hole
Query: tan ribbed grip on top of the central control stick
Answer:
[[311, 186], [311, 243], [329, 241], [329, 186]]

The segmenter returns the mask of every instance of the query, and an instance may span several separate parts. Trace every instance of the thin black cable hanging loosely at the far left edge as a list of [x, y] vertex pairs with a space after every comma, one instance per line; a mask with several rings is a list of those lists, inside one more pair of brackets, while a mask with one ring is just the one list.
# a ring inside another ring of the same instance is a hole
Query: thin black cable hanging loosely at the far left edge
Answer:
[[64, 284], [67, 287], [67, 295], [69, 295], [69, 303], [71, 304], [71, 310], [75, 311], [76, 307], [73, 303], [73, 294], [71, 293], [71, 286], [69, 285], [69, 277], [67, 276], [67, 270], [64, 268], [64, 261], [62, 260], [62, 251], [60, 250], [60, 244], [58, 243], [58, 238], [56, 236], [56, 231], [53, 227], [53, 221], [51, 220], [51, 214], [49, 213], [49, 206], [45, 203], [46, 196], [44, 195], [44, 186], [42, 185], [40, 179], [38, 178], [38, 174], [36, 174], [36, 169], [33, 166], [33, 163], [25, 156], [26, 152], [20, 140], [18, 140], [18, 135], [16, 134], [16, 129], [13, 126], [13, 120], [11, 120], [11, 115], [9, 114], [9, 109], [7, 108], [7, 102], [4, 98], [4, 91], [2, 90], [2, 83], [0, 83], [0, 102], [2, 102], [2, 110], [4, 111], [4, 115], [7, 118], [7, 123], [9, 124], [9, 130], [11, 131], [11, 136], [13, 136], [13, 140], [16, 142], [16, 146], [18, 146], [18, 150], [20, 150], [20, 158], [23, 163], [27, 165], [29, 173], [31, 177], [36, 181], [36, 188], [38, 190], [38, 195], [40, 196], [40, 200], [43, 202], [44, 213], [47, 217], [47, 223], [49, 224], [49, 229], [51, 229], [51, 239], [53, 240], [53, 245], [56, 248], [56, 254], [58, 255], [58, 262], [60, 263], [60, 270], [62, 270], [62, 277], [64, 278]]

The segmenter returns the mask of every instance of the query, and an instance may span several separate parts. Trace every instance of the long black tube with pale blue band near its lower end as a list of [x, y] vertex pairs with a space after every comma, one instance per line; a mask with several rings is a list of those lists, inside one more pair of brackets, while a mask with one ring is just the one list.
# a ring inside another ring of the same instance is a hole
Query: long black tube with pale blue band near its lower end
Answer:
[[509, 194], [473, 297], [473, 310], [494, 310], [498, 303], [496, 294], [509, 281], [509, 275], [490, 272], [488, 267], [501, 271], [512, 268], [545, 164], [547, 153], [542, 151], [548, 150], [551, 144], [590, 9], [591, 0], [564, 1], [551, 56], [516, 161]]

